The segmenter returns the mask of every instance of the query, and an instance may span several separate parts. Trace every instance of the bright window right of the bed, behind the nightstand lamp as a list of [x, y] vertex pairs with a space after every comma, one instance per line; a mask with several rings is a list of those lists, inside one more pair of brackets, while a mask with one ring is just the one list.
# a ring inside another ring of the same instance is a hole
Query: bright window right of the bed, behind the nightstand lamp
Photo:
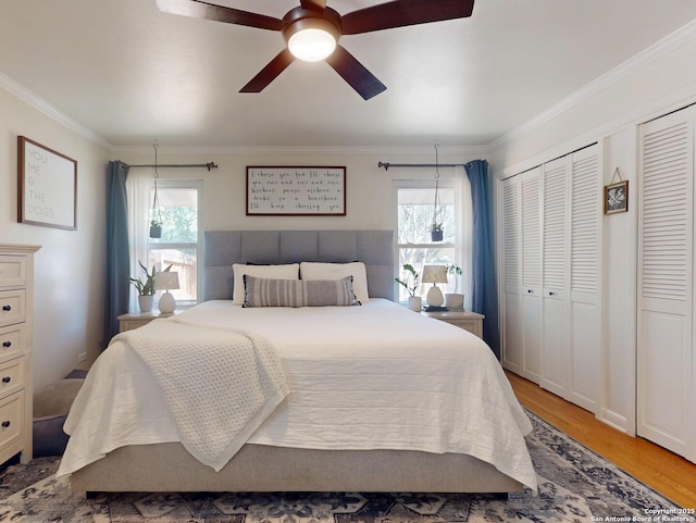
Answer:
[[[435, 180], [395, 180], [397, 209], [397, 261], [398, 277], [408, 277], [402, 271], [405, 263], [410, 263], [419, 274], [423, 273], [425, 264], [459, 264], [460, 258], [460, 227], [458, 219], [457, 184], [451, 179], [439, 180], [439, 199], [443, 204], [443, 241], [431, 240], [430, 226], [433, 221], [433, 204], [435, 202]], [[455, 291], [455, 279], [440, 286], [444, 292]], [[415, 290], [417, 296], [425, 298], [426, 286], [421, 285]], [[461, 288], [461, 286], [460, 286]], [[402, 285], [398, 286], [399, 301], [407, 301], [409, 294]], [[461, 291], [461, 290], [460, 290]]]

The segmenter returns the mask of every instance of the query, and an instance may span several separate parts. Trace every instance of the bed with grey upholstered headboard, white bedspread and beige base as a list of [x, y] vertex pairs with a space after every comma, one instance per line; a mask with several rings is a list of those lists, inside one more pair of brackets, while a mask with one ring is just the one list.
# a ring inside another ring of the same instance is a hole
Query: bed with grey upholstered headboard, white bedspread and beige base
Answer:
[[[228, 461], [204, 464], [163, 413], [151, 369], [115, 340], [71, 410], [59, 475], [88, 493], [536, 489], [531, 424], [500, 365], [472, 334], [391, 301], [393, 253], [389, 231], [206, 233], [206, 302], [152, 322], [152, 335], [231, 325], [259, 335], [277, 349], [287, 394]], [[301, 308], [231, 300], [235, 264], [296, 262], [359, 262], [369, 298]]]

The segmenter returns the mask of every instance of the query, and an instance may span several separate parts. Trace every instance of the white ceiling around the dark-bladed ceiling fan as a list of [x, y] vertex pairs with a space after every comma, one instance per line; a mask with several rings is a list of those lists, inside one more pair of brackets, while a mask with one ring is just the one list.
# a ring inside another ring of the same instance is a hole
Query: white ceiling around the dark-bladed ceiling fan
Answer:
[[[209, 1], [276, 17], [298, 4]], [[485, 146], [694, 18], [696, 0], [476, 0], [470, 18], [344, 36], [387, 86], [364, 101], [323, 62], [239, 94], [283, 49], [276, 32], [154, 0], [0, 0], [0, 80], [114, 147]]]

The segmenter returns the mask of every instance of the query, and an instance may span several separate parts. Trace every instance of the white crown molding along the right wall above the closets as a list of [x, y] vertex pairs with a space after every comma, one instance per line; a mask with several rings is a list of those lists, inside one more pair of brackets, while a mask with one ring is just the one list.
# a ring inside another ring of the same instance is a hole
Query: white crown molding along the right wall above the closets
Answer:
[[542, 126], [546, 122], [555, 119], [559, 114], [572, 109], [580, 104], [584, 100], [601, 92], [618, 82], [626, 78], [633, 73], [646, 67], [652, 62], [661, 59], [670, 52], [685, 46], [696, 38], [696, 20], [689, 22], [683, 27], [676, 29], [674, 33], [666, 36], [661, 40], [651, 45], [644, 51], [619, 64], [613, 70], [602, 74], [595, 80], [591, 82], [586, 86], [577, 89], [575, 92], [564, 98], [556, 105], [552, 105], [548, 110], [527, 121], [526, 123], [515, 127], [514, 129], [506, 133], [500, 138], [492, 141], [488, 145], [488, 153], [493, 153], [496, 149], [506, 146], [517, 138], [530, 133], [536, 127]]

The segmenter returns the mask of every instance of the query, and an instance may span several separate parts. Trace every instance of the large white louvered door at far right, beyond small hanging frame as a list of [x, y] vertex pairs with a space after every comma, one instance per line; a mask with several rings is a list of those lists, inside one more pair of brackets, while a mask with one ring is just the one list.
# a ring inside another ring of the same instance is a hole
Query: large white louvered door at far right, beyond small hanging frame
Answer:
[[637, 311], [637, 432], [692, 461], [694, 120], [692, 108], [641, 128]]

